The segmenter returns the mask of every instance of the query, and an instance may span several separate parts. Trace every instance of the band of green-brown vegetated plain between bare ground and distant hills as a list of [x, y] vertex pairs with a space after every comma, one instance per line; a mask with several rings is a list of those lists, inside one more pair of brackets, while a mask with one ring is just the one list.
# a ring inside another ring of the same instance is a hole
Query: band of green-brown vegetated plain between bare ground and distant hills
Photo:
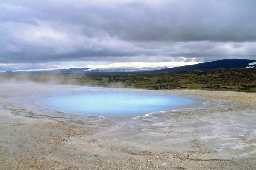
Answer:
[[256, 92], [256, 68], [228, 68], [165, 74], [1, 74], [2, 79], [143, 89], [201, 89]]

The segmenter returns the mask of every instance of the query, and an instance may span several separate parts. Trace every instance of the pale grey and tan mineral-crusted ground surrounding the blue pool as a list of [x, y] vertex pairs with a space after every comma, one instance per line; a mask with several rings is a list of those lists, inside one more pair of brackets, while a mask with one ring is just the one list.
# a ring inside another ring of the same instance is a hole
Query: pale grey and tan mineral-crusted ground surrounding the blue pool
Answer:
[[23, 83], [0, 89], [0, 170], [256, 169], [255, 93], [148, 91], [205, 102], [122, 122], [37, 102], [90, 87]]

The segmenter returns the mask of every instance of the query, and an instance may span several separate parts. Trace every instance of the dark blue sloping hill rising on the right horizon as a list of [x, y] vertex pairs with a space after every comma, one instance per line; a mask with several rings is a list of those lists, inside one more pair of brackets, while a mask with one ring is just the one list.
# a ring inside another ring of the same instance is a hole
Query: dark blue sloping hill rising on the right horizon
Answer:
[[222, 59], [211, 62], [204, 62], [194, 65], [185, 65], [174, 68], [166, 68], [162, 70], [148, 71], [147, 73], [170, 73], [178, 71], [192, 71], [203, 69], [219, 69], [219, 68], [256, 68], [256, 60], [249, 59]]

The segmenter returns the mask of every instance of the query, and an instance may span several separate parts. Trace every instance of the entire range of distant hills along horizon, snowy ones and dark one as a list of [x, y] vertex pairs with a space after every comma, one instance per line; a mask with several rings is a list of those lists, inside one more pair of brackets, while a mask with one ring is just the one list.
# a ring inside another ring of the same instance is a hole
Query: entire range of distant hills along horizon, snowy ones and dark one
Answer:
[[186, 65], [181, 67], [167, 68], [166, 66], [147, 66], [141, 68], [120, 67], [120, 68], [67, 68], [55, 69], [48, 71], [6, 71], [6, 74], [12, 73], [28, 73], [28, 74], [62, 74], [62, 73], [122, 73], [122, 74], [154, 74], [154, 73], [170, 73], [179, 71], [192, 71], [203, 69], [219, 69], [219, 68], [253, 68], [256, 67], [256, 60], [248, 59], [223, 59], [212, 62], [204, 62], [194, 65]]

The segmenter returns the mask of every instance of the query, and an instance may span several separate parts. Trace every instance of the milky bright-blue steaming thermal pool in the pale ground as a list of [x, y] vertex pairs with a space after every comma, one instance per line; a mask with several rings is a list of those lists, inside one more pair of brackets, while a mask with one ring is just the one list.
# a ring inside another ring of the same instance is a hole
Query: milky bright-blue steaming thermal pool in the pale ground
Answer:
[[44, 99], [41, 104], [70, 113], [104, 116], [166, 111], [194, 102], [194, 99], [180, 96], [91, 91]]

